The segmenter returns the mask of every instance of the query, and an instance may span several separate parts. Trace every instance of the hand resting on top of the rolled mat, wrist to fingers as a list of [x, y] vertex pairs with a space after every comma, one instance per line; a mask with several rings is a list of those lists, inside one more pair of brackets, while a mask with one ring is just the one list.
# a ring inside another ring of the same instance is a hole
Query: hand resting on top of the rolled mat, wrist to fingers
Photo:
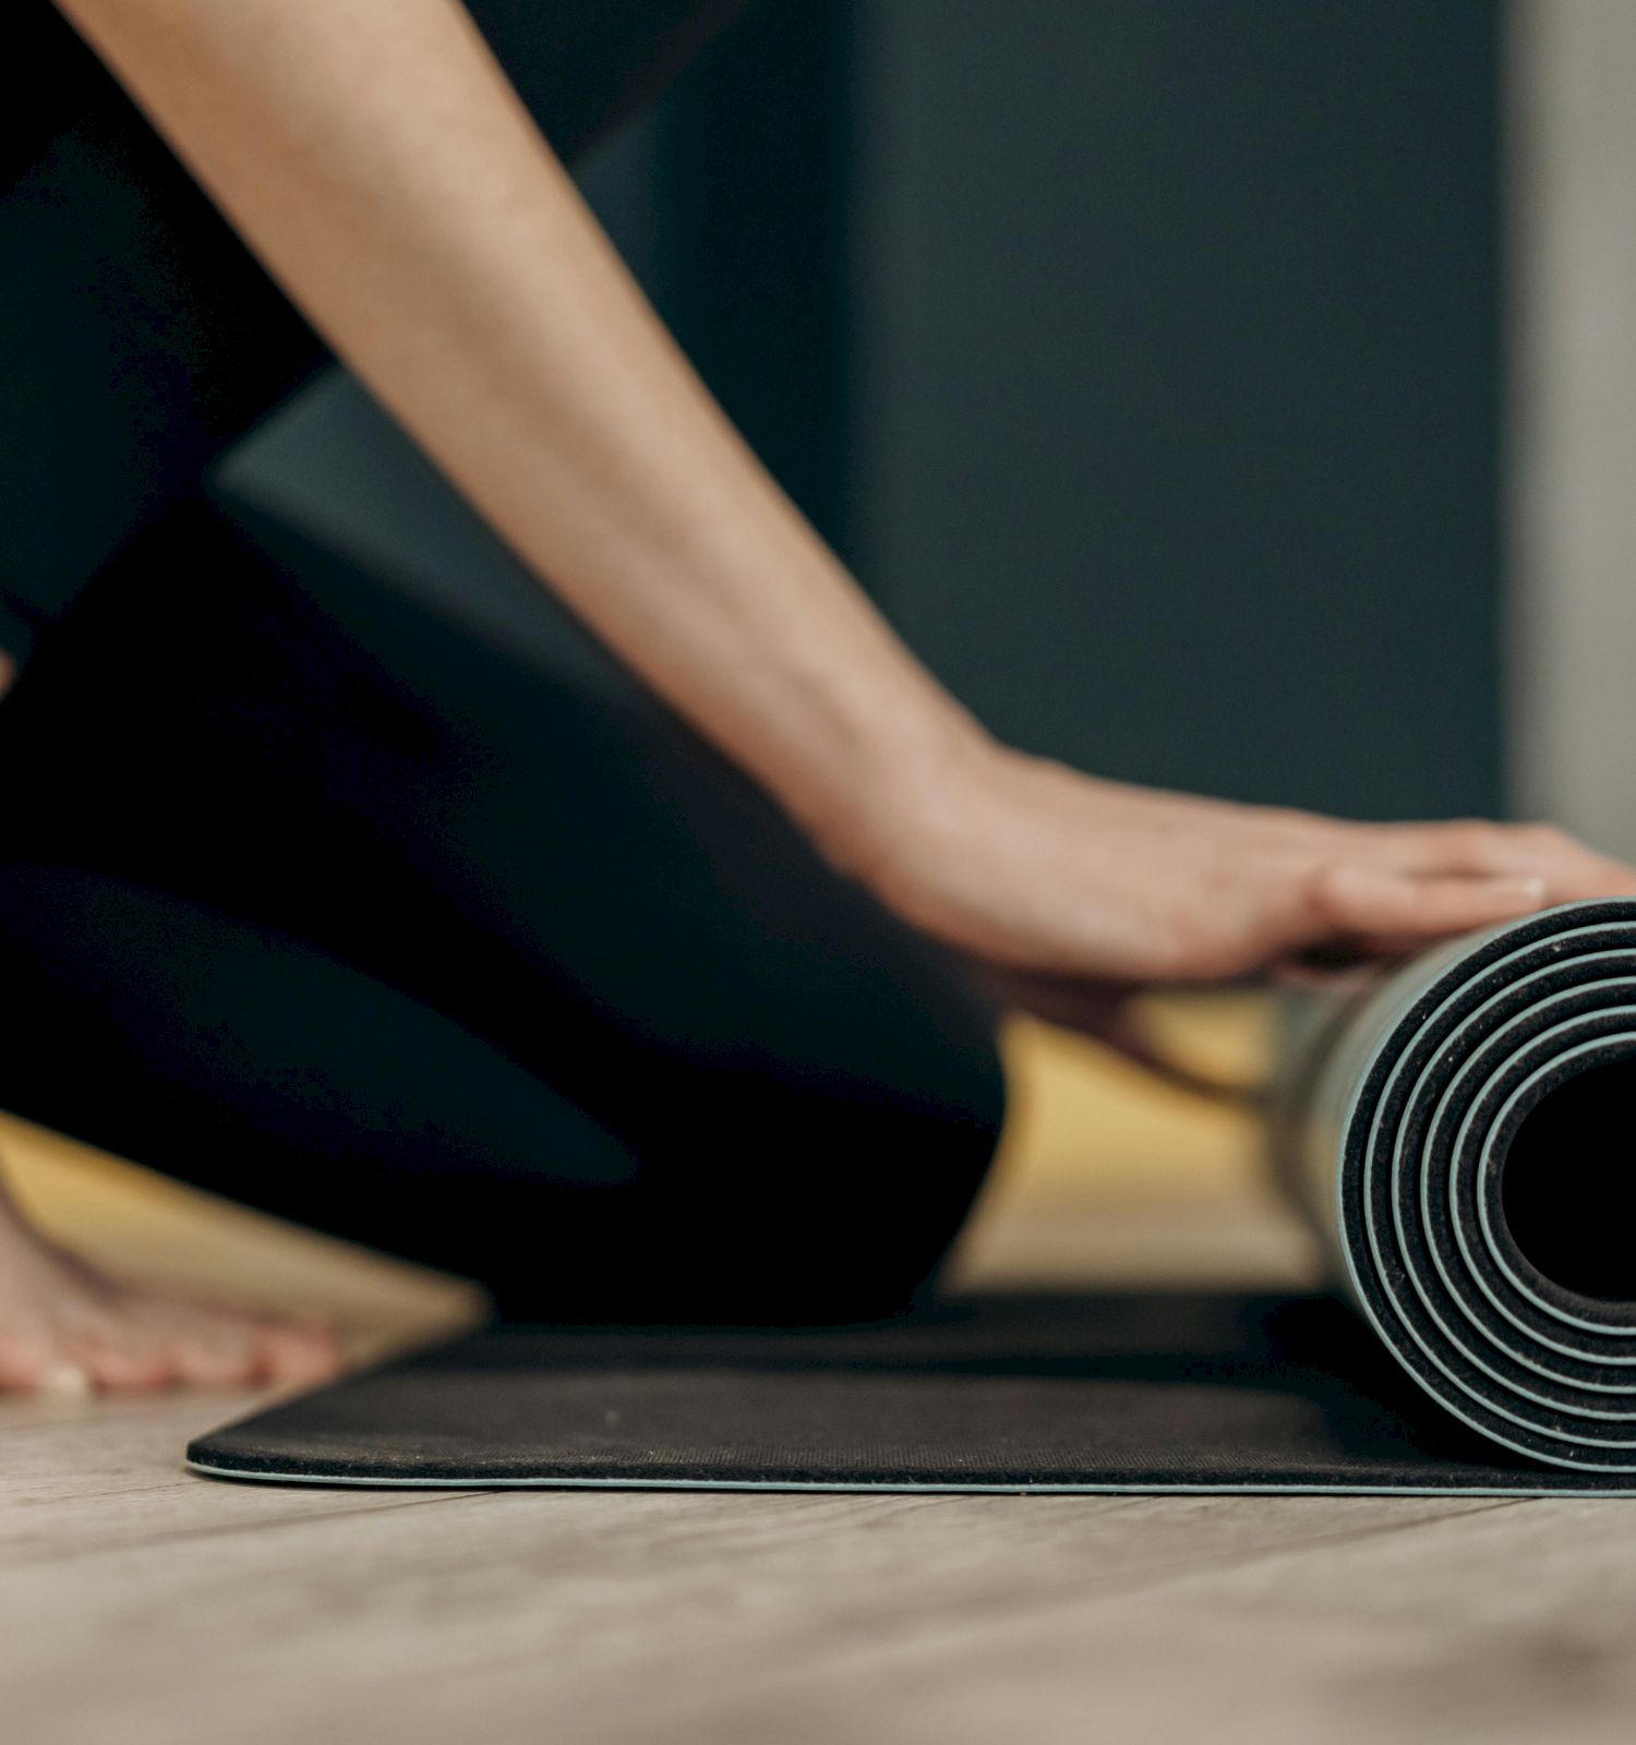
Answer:
[[987, 742], [895, 817], [853, 857], [863, 881], [1062, 1010], [1106, 1003], [1109, 984], [1394, 958], [1554, 902], [1636, 895], [1636, 872], [1549, 825], [1350, 824], [1102, 782]]

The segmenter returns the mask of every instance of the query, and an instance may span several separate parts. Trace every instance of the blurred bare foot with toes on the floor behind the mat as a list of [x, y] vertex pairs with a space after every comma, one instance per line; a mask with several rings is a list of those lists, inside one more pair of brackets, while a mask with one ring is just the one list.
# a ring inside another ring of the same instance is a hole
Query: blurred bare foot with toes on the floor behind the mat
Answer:
[[120, 1284], [31, 1230], [0, 1188], [0, 1389], [321, 1382], [338, 1368], [321, 1323]]

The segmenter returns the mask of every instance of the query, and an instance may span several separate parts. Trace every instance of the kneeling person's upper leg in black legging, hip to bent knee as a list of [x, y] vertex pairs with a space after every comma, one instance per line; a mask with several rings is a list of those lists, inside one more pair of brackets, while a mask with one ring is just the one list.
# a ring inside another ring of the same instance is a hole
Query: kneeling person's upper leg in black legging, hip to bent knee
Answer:
[[204, 511], [126, 567], [7, 710], [33, 855], [450, 1016], [614, 1134], [729, 1295], [935, 1267], [999, 1127], [992, 1016], [663, 710]]

